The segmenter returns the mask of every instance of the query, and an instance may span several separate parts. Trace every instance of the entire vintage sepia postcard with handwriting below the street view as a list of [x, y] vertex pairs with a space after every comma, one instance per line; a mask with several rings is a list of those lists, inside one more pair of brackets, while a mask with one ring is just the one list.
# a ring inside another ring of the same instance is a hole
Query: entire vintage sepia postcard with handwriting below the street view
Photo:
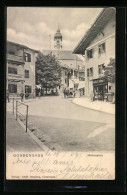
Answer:
[[7, 7], [7, 180], [115, 180], [115, 41], [114, 7]]

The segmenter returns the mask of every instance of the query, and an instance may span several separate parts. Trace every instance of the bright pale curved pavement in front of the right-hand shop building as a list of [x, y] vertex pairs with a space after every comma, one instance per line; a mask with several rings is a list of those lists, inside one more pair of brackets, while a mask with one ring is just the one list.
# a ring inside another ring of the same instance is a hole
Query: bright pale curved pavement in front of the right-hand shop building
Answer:
[[97, 110], [109, 114], [115, 114], [115, 104], [112, 104], [111, 102], [97, 100], [92, 102], [90, 98], [87, 97], [75, 98], [72, 100], [72, 102], [92, 110]]

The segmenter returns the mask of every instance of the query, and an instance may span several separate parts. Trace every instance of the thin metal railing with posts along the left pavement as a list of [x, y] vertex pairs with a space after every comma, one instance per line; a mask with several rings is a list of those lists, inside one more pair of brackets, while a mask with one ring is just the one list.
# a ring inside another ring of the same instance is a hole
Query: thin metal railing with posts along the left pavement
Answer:
[[[21, 98], [20, 98], [21, 99]], [[13, 114], [16, 120], [21, 120], [25, 122], [26, 132], [28, 128], [28, 105], [13, 98]]]

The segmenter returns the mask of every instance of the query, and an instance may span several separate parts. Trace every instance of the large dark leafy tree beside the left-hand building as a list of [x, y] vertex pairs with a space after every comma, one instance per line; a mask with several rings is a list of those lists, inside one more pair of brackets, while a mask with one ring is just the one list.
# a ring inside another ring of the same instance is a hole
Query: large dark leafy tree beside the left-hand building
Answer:
[[39, 52], [36, 59], [36, 84], [44, 88], [57, 88], [61, 83], [61, 67], [58, 59], [51, 53]]

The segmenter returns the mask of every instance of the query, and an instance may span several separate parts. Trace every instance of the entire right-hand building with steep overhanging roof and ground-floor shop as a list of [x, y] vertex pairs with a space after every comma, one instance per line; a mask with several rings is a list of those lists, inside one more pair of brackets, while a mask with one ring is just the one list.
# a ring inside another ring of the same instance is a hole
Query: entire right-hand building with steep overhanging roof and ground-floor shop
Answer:
[[104, 100], [115, 93], [115, 85], [104, 77], [110, 58], [115, 59], [115, 8], [105, 8], [87, 31], [73, 53], [85, 55], [85, 94]]

